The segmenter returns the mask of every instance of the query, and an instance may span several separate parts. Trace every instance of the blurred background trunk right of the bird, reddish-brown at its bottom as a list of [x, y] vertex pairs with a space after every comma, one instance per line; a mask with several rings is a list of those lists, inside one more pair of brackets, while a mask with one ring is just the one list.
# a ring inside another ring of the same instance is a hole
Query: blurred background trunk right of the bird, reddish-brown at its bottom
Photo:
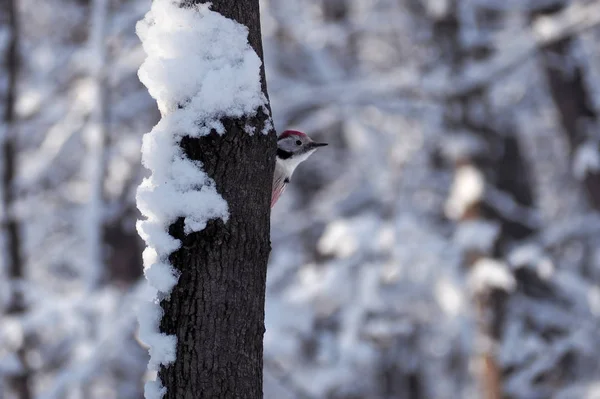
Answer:
[[[485, 10], [487, 18], [498, 18], [494, 10]], [[460, 75], [469, 62], [485, 62], [492, 54], [486, 43], [465, 46], [460, 39], [461, 14], [457, 1], [451, 1], [446, 13], [433, 24], [433, 32], [439, 43], [440, 53], [450, 70]], [[477, 60], [477, 61], [471, 61]], [[525, 169], [517, 139], [517, 132], [508, 123], [499, 123], [488, 99], [488, 88], [482, 87], [447, 99], [444, 123], [450, 132], [467, 133], [471, 139], [485, 143], [486, 150], [465, 153], [454, 159], [455, 181], [463, 184], [460, 176], [475, 174], [481, 179], [481, 196], [474, 199], [460, 214], [453, 215], [457, 227], [470, 223], [493, 223], [499, 234], [489, 249], [467, 248], [465, 267], [469, 273], [484, 259], [501, 260], [511, 242], [532, 234], [534, 227], [521, 221], [510, 210], [502, 209], [493, 199], [498, 195], [508, 199], [517, 207], [529, 208], [533, 204], [531, 184]], [[483, 114], [483, 116], [482, 116]], [[498, 359], [497, 346], [502, 339], [505, 316], [506, 293], [497, 287], [473, 293], [477, 335], [488, 344], [478, 349], [478, 379], [481, 397], [500, 399], [503, 397], [502, 366]]]

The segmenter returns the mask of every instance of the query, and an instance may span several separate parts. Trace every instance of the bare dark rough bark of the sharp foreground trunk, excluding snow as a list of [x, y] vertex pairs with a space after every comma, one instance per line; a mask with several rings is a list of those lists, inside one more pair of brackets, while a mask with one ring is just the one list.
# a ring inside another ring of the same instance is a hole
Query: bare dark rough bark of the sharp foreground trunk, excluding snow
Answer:
[[[213, 0], [212, 10], [246, 25], [262, 56], [258, 0]], [[264, 69], [261, 71], [266, 94]], [[270, 198], [275, 132], [260, 132], [268, 116], [222, 120], [226, 133], [185, 137], [182, 147], [202, 162], [229, 205], [227, 223], [213, 220], [185, 235], [183, 220], [170, 228], [182, 248], [170, 257], [181, 272], [161, 306], [160, 329], [177, 336], [177, 360], [161, 367], [165, 398], [261, 398], [264, 303], [270, 252]]]

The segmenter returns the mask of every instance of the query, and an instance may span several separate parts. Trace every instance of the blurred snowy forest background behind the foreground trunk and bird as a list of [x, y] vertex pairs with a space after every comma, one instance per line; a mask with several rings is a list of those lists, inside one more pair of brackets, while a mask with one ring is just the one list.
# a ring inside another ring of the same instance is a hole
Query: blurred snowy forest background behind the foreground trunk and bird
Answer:
[[[150, 6], [0, 0], [0, 399], [154, 378]], [[275, 128], [329, 143], [272, 212], [265, 398], [600, 397], [600, 1], [264, 0], [261, 23]]]

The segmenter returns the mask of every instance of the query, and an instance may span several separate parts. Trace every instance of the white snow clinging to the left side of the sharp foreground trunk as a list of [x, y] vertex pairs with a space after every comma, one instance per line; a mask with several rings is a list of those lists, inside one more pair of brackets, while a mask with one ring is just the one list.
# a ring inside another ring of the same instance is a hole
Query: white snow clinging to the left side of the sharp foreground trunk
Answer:
[[[162, 115], [143, 138], [142, 163], [152, 174], [137, 191], [138, 208], [146, 218], [137, 224], [148, 246], [144, 274], [157, 290], [157, 298], [139, 311], [139, 335], [149, 345], [150, 369], [175, 360], [176, 337], [158, 328], [163, 314], [159, 298], [168, 300], [179, 278], [169, 255], [181, 243], [169, 235], [169, 226], [184, 218], [189, 234], [204, 229], [211, 219], [229, 218], [215, 182], [200, 162], [186, 157], [179, 143], [184, 136], [207, 135], [212, 129], [225, 133], [222, 118], [266, 112], [261, 60], [248, 43], [248, 29], [211, 11], [210, 5], [181, 4], [154, 1], [136, 29], [148, 55], [138, 75]], [[146, 384], [147, 399], [159, 399], [165, 392], [159, 379]]]

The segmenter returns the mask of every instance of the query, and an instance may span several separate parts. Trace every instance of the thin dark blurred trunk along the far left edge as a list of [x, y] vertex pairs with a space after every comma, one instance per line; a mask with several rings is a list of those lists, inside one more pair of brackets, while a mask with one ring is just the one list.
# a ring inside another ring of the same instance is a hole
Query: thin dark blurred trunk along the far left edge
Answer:
[[[15, 167], [16, 167], [16, 131], [15, 131], [15, 103], [17, 96], [17, 77], [19, 72], [19, 26], [17, 18], [17, 5], [15, 0], [0, 0], [0, 29], [5, 26], [9, 33], [7, 47], [2, 54], [2, 69], [5, 74], [6, 91], [1, 93], [4, 100], [2, 138], [2, 207], [4, 219], [2, 221], [5, 236], [8, 277], [13, 282], [19, 282], [24, 277], [24, 264], [21, 254], [21, 236], [19, 223], [13, 213], [15, 202]], [[0, 84], [0, 87], [2, 84]], [[8, 314], [25, 312], [25, 300], [20, 290], [13, 285], [13, 291], [6, 307]], [[17, 350], [17, 357], [21, 361], [22, 370], [12, 375], [8, 385], [20, 399], [29, 399], [29, 370], [25, 361], [26, 338]]]

